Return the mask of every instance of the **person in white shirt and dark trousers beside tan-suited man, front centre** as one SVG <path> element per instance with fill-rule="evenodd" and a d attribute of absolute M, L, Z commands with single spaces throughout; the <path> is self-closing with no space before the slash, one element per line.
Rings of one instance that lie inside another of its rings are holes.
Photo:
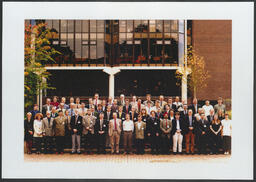
<path fill-rule="evenodd" d="M 134 131 L 134 123 L 132 120 L 130 120 L 129 114 L 126 114 L 125 118 L 126 120 L 123 121 L 124 154 L 129 154 L 132 152 L 132 133 Z"/>

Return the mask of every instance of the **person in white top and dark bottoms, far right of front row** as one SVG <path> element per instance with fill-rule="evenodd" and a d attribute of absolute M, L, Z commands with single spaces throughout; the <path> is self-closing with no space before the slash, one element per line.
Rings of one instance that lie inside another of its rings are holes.
<path fill-rule="evenodd" d="M 228 114 L 225 114 L 225 119 L 221 121 L 222 125 L 222 136 L 223 136 L 223 149 L 224 154 L 230 154 L 231 152 L 231 136 L 232 136 L 232 124 L 228 118 Z"/>

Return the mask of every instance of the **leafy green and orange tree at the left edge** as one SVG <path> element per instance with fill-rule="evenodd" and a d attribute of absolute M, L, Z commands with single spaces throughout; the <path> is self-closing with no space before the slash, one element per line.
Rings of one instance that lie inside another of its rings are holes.
<path fill-rule="evenodd" d="M 45 23 L 31 26 L 25 25 L 24 40 L 24 96 L 25 111 L 32 108 L 36 96 L 41 89 L 54 89 L 44 80 L 50 76 L 44 65 L 54 61 L 53 56 L 60 54 L 51 47 L 50 40 L 55 37 L 55 32 L 46 28 Z"/>

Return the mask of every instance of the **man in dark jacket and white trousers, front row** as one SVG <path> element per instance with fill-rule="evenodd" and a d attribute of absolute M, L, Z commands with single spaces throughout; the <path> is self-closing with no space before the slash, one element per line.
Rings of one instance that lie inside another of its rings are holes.
<path fill-rule="evenodd" d="M 172 120 L 172 137 L 173 137 L 173 154 L 175 155 L 177 153 L 182 153 L 182 141 L 183 141 L 183 135 L 185 133 L 184 129 L 184 120 L 180 118 L 180 113 L 175 113 L 175 119 Z"/>

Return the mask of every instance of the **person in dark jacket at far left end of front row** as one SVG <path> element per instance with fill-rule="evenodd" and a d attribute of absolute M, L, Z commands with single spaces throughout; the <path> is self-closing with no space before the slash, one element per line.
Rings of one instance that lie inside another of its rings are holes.
<path fill-rule="evenodd" d="M 24 131 L 25 131 L 25 142 L 27 153 L 31 154 L 32 143 L 33 143 L 33 118 L 32 113 L 27 113 L 27 118 L 24 120 Z"/>

